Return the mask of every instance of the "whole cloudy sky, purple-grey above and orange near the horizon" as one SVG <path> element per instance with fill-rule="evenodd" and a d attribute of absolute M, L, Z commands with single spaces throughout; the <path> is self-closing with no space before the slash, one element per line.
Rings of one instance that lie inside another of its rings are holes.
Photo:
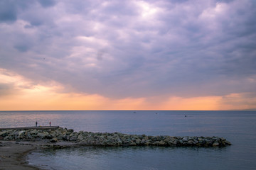
<path fill-rule="evenodd" d="M 255 0 L 1 0 L 0 111 L 256 110 Z"/>

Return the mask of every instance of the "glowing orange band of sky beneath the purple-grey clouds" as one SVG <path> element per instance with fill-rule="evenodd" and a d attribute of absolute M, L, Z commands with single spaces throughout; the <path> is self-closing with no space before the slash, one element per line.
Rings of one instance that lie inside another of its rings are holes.
<path fill-rule="evenodd" d="M 178 96 L 155 96 L 151 98 L 107 98 L 100 94 L 65 92 L 55 82 L 50 86 L 33 84 L 18 74 L 0 69 L 0 84 L 10 85 L 0 89 L 0 111 L 49 111 L 49 110 L 243 110 L 255 107 L 256 98 L 247 94 L 227 96 L 203 96 L 182 98 Z M 249 101 L 250 100 L 250 101 Z"/>

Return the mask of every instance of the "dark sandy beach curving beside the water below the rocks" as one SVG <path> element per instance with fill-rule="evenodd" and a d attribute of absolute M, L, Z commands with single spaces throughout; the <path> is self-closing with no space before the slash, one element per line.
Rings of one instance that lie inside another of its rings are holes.
<path fill-rule="evenodd" d="M 36 149 L 36 145 L 29 142 L 0 142 L 0 169 L 1 170 L 35 170 L 26 162 L 26 154 Z"/>

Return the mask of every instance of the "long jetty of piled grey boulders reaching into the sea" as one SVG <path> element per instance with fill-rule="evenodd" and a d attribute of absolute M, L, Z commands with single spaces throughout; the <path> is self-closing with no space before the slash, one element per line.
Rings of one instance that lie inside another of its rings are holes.
<path fill-rule="evenodd" d="M 128 135 L 120 132 L 74 132 L 72 129 L 5 129 L 0 130 L 0 140 L 73 142 L 95 146 L 169 146 L 169 147 L 225 147 L 231 145 L 223 137 L 173 137 Z"/>

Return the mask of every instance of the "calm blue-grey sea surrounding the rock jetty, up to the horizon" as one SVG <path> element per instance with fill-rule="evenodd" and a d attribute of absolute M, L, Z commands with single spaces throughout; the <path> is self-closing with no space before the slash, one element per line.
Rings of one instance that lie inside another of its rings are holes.
<path fill-rule="evenodd" d="M 218 136 L 228 147 L 78 147 L 36 150 L 42 169 L 256 169 L 256 111 L 0 111 L 0 128 L 58 125 L 75 131 Z"/>

